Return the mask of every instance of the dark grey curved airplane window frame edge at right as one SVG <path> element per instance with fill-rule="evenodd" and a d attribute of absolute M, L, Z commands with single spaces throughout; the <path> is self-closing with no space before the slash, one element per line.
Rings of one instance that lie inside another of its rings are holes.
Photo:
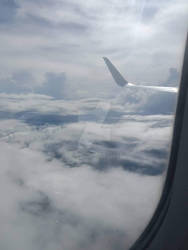
<path fill-rule="evenodd" d="M 130 250 L 188 249 L 188 35 L 168 172 L 158 206 Z"/>

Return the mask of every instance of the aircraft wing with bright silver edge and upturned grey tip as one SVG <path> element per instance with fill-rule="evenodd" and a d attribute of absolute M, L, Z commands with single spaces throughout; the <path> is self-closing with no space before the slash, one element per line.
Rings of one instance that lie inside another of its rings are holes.
<path fill-rule="evenodd" d="M 134 83 L 130 83 L 121 75 L 121 73 L 116 69 L 116 67 L 111 63 L 111 61 L 107 57 L 103 57 L 114 81 L 117 83 L 118 86 L 124 87 L 135 87 L 135 88 L 146 88 L 146 89 L 152 89 L 152 90 L 158 90 L 158 91 L 164 91 L 164 92 L 171 92 L 171 93 L 177 93 L 178 88 L 175 87 L 165 87 L 165 86 L 149 86 L 149 85 L 137 85 Z"/>

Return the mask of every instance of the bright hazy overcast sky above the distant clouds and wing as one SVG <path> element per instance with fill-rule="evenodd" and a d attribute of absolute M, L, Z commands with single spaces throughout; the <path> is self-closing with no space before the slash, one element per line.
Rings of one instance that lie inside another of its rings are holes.
<path fill-rule="evenodd" d="M 186 2 L 3 0 L 1 85 L 8 81 L 28 91 L 48 81 L 49 74 L 64 74 L 66 88 L 79 97 L 104 89 L 111 93 L 103 56 L 130 82 L 165 83 L 171 69 L 181 73 Z M 172 84 L 178 84 L 174 77 Z"/>

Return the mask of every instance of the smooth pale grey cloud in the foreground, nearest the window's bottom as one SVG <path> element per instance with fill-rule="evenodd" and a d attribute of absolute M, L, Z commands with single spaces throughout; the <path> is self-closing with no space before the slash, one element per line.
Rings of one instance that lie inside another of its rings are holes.
<path fill-rule="evenodd" d="M 160 194 L 161 178 L 68 169 L 29 149 L 0 148 L 0 190 L 7 191 L 0 209 L 2 249 L 128 248 Z"/>

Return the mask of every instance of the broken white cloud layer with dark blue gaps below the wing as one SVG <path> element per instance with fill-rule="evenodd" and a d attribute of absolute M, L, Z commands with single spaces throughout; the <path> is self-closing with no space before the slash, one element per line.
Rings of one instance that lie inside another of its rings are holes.
<path fill-rule="evenodd" d="M 172 115 L 133 114 L 101 99 L 22 98 L 1 96 L 3 141 L 39 150 L 68 167 L 87 164 L 98 171 L 123 168 L 147 175 L 164 171 Z"/>

